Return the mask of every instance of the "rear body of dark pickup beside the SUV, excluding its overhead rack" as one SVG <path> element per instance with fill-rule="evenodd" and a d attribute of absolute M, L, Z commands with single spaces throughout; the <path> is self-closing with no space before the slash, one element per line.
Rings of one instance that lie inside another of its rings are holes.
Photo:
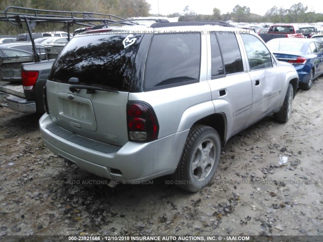
<path fill-rule="evenodd" d="M 22 83 L 0 81 L 0 106 L 23 113 L 44 113 L 42 92 L 54 61 L 21 64 Z"/>

